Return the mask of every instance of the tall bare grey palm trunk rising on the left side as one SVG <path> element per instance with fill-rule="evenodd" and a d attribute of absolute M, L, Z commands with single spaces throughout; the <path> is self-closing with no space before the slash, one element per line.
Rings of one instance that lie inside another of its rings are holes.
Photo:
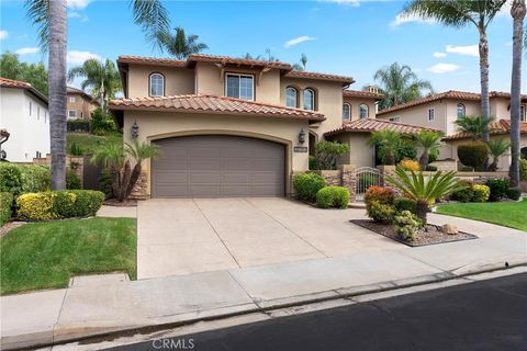
<path fill-rule="evenodd" d="M 49 135 L 52 189 L 66 189 L 66 0 L 49 1 Z"/>

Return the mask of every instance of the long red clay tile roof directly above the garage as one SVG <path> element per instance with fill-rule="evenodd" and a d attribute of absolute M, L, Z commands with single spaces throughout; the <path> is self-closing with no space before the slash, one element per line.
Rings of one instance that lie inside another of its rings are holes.
<path fill-rule="evenodd" d="M 144 110 L 161 112 L 194 112 L 211 114 L 261 115 L 289 117 L 309 121 L 324 121 L 322 113 L 246 101 L 233 98 L 189 94 L 160 98 L 115 99 L 110 101 L 110 110 Z"/>

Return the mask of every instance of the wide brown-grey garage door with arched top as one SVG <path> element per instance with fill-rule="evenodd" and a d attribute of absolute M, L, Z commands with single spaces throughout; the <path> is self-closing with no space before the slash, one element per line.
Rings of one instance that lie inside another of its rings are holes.
<path fill-rule="evenodd" d="M 154 141 L 154 197 L 283 196 L 285 149 L 281 144 L 206 135 Z"/>

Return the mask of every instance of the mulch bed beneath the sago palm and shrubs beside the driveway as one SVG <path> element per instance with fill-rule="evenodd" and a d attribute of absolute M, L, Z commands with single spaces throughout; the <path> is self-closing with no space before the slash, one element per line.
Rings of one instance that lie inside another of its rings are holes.
<path fill-rule="evenodd" d="M 417 239 L 415 241 L 405 241 L 399 237 L 399 234 L 395 231 L 395 227 L 393 225 L 381 224 L 371 219 L 351 219 L 350 222 L 352 224 L 361 226 L 362 228 L 370 229 L 371 231 L 374 231 L 377 234 L 385 236 L 386 238 L 393 239 L 410 247 L 470 240 L 478 238 L 475 235 L 464 231 L 458 231 L 458 234 L 456 235 L 448 235 L 442 233 L 439 226 L 428 224 L 425 228 L 419 230 L 419 234 L 417 235 Z"/>

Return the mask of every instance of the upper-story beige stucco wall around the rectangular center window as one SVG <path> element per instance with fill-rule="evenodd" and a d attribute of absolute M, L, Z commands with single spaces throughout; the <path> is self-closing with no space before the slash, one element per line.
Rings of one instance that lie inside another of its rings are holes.
<path fill-rule="evenodd" d="M 258 69 L 239 69 L 227 67 L 223 70 L 214 64 L 198 63 L 195 66 L 195 91 L 201 94 L 225 97 L 225 75 L 243 73 L 255 77 L 255 101 L 280 103 L 280 71 L 271 69 L 261 72 Z"/>

